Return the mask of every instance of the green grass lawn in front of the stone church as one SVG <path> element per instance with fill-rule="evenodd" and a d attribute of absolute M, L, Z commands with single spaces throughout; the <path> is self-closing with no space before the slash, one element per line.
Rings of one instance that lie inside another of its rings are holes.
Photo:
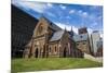
<path fill-rule="evenodd" d="M 103 66 L 103 63 L 80 58 L 13 59 L 11 64 L 13 73 Z"/>

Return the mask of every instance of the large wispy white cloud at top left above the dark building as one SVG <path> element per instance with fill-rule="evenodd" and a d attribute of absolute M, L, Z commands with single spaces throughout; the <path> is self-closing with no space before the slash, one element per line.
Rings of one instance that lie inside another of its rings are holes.
<path fill-rule="evenodd" d="M 32 9 L 39 13 L 43 13 L 48 9 L 46 4 L 40 2 L 13 0 L 12 3 L 26 10 Z"/>

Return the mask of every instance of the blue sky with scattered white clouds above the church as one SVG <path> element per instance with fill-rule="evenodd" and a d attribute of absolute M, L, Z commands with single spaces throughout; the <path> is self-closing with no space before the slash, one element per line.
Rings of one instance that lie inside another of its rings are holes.
<path fill-rule="evenodd" d="M 39 19 L 44 15 L 62 28 L 77 33 L 79 27 L 86 26 L 87 31 L 103 33 L 103 7 L 82 4 L 62 4 L 12 0 L 12 3 L 30 15 Z"/>

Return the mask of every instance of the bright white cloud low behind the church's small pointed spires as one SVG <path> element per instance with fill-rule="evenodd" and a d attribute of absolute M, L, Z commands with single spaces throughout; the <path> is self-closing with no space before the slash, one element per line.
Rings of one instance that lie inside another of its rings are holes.
<path fill-rule="evenodd" d="M 59 26 L 60 28 L 63 29 L 67 29 L 67 31 L 71 31 L 71 25 L 66 25 L 66 24 L 63 24 L 63 23 L 55 23 L 57 26 Z M 78 28 L 76 26 L 72 26 L 72 31 L 78 34 Z"/>

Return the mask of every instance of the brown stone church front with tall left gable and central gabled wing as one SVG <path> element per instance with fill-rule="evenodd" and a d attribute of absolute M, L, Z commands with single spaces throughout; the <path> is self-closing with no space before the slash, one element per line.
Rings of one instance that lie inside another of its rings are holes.
<path fill-rule="evenodd" d="M 31 40 L 26 45 L 24 58 L 83 57 L 76 48 L 73 32 L 62 29 L 45 17 L 36 25 Z"/>

